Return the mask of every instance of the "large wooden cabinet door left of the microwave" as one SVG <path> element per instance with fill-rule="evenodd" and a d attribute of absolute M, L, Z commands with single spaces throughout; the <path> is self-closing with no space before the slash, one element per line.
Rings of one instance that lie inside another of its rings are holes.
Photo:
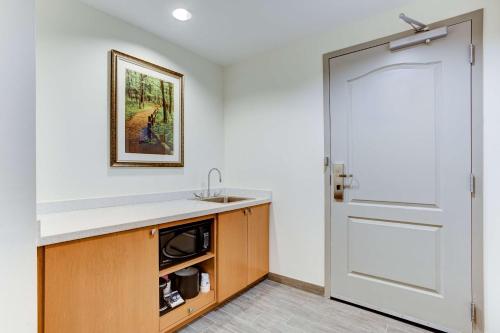
<path fill-rule="evenodd" d="M 158 332 L 158 233 L 152 230 L 47 246 L 45 333 Z"/>

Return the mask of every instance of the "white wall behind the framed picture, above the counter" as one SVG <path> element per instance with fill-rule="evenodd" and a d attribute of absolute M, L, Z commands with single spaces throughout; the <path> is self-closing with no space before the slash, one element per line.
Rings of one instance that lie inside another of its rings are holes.
<path fill-rule="evenodd" d="M 222 69 L 75 0 L 37 0 L 37 199 L 167 192 L 223 167 Z M 185 167 L 110 168 L 108 52 L 185 75 Z"/>

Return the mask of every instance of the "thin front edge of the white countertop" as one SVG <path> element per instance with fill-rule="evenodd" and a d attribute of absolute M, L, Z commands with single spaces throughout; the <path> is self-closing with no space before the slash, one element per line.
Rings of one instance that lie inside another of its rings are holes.
<path fill-rule="evenodd" d="M 103 235 L 108 235 L 108 234 L 112 234 L 112 233 L 116 233 L 116 232 L 145 228 L 148 226 L 156 226 L 159 224 L 176 222 L 176 221 L 181 221 L 181 220 L 190 219 L 190 218 L 196 218 L 196 217 L 200 217 L 200 216 L 204 216 L 204 215 L 223 213 L 223 212 L 237 210 L 237 209 L 241 209 L 241 208 L 267 204 L 267 203 L 271 203 L 271 202 L 272 202 L 271 198 L 256 198 L 253 200 L 241 201 L 241 202 L 236 202 L 236 203 L 231 203 L 231 204 L 220 204 L 220 206 L 214 206 L 213 208 L 210 208 L 210 209 L 198 209 L 198 210 L 191 210 L 191 211 L 188 210 L 188 211 L 183 212 L 183 213 L 167 215 L 167 216 L 158 216 L 155 218 L 137 220 L 137 221 L 132 221 L 132 222 L 123 223 L 123 224 L 106 226 L 106 227 L 102 227 L 102 228 L 98 227 L 98 228 L 92 228 L 92 229 L 87 229 L 87 230 L 78 230 L 75 232 L 58 234 L 58 235 L 51 235 L 51 236 L 46 236 L 46 237 L 39 236 L 38 241 L 37 241 L 37 247 L 54 245 L 57 243 L 64 243 L 64 242 L 75 241 L 75 240 L 85 239 L 85 238 L 90 238 L 90 237 L 103 236 Z M 39 223 L 43 223 L 43 222 L 40 221 Z"/>

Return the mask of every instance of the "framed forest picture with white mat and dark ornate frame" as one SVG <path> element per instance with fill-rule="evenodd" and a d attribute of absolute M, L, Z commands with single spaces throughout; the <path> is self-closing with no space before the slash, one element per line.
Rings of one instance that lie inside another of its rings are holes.
<path fill-rule="evenodd" d="M 111 50 L 111 166 L 184 166 L 183 75 Z"/>

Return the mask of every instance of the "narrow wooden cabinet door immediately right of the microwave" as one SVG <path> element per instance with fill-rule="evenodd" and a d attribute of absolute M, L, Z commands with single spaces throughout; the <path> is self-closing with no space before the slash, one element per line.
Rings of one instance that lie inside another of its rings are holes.
<path fill-rule="evenodd" d="M 219 302 L 247 286 L 247 217 L 244 210 L 219 214 L 217 221 Z"/>

